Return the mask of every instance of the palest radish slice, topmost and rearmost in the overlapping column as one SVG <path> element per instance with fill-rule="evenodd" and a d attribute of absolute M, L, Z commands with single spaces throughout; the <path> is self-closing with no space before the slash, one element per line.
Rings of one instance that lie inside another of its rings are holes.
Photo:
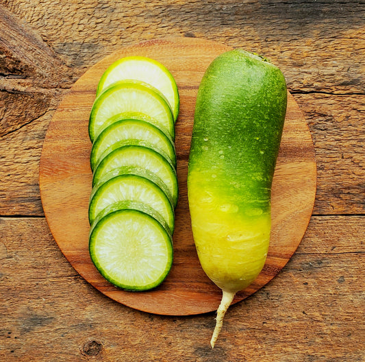
<path fill-rule="evenodd" d="M 176 82 L 164 65 L 151 58 L 129 56 L 114 62 L 103 73 L 97 88 L 97 95 L 114 82 L 129 79 L 146 82 L 160 90 L 168 100 L 176 121 L 179 112 L 179 93 Z"/>

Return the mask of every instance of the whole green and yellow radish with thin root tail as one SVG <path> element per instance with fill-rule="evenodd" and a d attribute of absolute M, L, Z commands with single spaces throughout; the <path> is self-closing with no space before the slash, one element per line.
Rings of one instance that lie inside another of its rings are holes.
<path fill-rule="evenodd" d="M 286 101 L 281 71 L 239 49 L 218 56 L 199 86 L 188 200 L 199 261 L 223 291 L 212 348 L 234 295 L 255 280 L 266 261 Z"/>

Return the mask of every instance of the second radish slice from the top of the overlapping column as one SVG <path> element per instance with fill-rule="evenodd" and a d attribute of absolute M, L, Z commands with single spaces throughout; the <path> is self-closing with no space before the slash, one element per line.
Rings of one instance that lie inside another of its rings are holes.
<path fill-rule="evenodd" d="M 108 125 L 120 119 L 143 119 L 175 139 L 173 114 L 164 97 L 142 82 L 120 81 L 97 97 L 89 119 L 89 136 L 93 142 Z"/>

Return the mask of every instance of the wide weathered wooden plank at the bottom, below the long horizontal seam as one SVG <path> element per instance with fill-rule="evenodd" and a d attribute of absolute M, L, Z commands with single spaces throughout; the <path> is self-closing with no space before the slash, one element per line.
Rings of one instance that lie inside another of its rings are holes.
<path fill-rule="evenodd" d="M 292 260 L 231 307 L 211 350 L 214 313 L 163 317 L 112 302 L 77 276 L 45 219 L 2 218 L 0 359 L 363 361 L 364 233 L 364 217 L 312 217 Z"/>

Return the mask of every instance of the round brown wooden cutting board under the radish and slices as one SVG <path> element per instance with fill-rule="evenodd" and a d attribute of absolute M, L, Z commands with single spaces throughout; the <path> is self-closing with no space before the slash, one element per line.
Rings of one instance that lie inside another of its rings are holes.
<path fill-rule="evenodd" d="M 205 69 L 230 48 L 197 38 L 151 40 L 125 47 L 87 71 L 64 97 L 49 125 L 40 159 L 40 193 L 49 228 L 64 256 L 91 285 L 132 308 L 162 315 L 194 315 L 214 311 L 221 300 L 205 276 L 190 228 L 186 176 L 197 90 Z M 248 49 L 249 50 L 249 49 Z M 92 173 L 88 117 L 99 78 L 124 56 L 148 56 L 162 62 L 179 88 L 176 123 L 179 202 L 176 209 L 174 263 L 166 280 L 152 291 L 129 292 L 110 285 L 88 254 L 88 200 Z M 271 280 L 286 265 L 303 237 L 312 215 L 316 193 L 316 161 L 310 131 L 289 94 L 288 111 L 273 181 L 273 228 L 266 265 L 238 302 Z"/>

